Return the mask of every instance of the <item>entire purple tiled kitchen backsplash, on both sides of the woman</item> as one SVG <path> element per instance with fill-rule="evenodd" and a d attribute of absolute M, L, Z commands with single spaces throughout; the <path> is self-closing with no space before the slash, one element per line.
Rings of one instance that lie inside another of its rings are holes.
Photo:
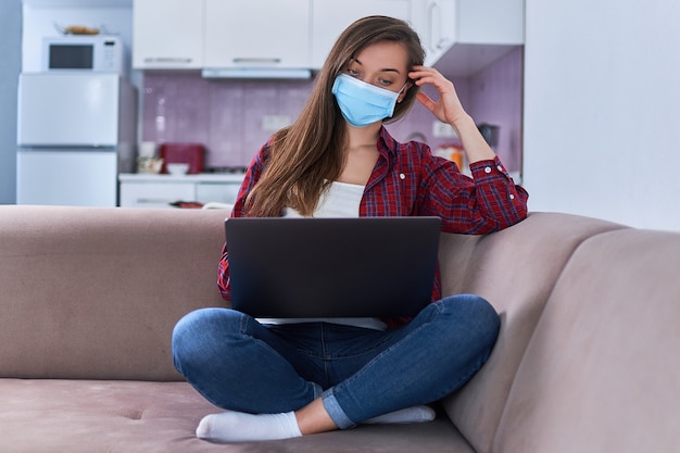
<path fill-rule="evenodd" d="M 500 126 L 495 151 L 508 171 L 521 168 L 522 51 L 513 50 L 473 77 L 454 79 L 475 121 Z M 226 80 L 197 73 L 144 74 L 142 140 L 200 142 L 206 167 L 247 166 L 272 134 L 264 115 L 298 116 L 313 80 Z M 435 97 L 431 87 L 425 92 Z M 432 149 L 450 139 L 432 136 L 435 117 L 418 102 L 405 118 L 388 125 L 400 141 L 423 140 Z"/>

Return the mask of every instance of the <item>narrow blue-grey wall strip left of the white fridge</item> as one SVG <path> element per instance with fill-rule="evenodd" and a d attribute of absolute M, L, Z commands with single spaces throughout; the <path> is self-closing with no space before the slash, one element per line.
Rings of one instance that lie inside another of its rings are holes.
<path fill-rule="evenodd" d="M 16 89 L 22 68 L 22 2 L 0 3 L 0 204 L 16 202 Z"/>

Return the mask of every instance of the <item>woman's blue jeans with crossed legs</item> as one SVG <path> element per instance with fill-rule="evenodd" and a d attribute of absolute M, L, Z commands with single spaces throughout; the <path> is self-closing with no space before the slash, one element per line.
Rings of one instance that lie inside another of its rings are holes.
<path fill-rule="evenodd" d="M 248 413 L 297 411 L 318 397 L 335 424 L 437 401 L 483 365 L 500 318 L 477 295 L 425 307 L 387 331 L 327 323 L 263 326 L 229 309 L 202 309 L 173 332 L 175 367 L 205 399 Z"/>

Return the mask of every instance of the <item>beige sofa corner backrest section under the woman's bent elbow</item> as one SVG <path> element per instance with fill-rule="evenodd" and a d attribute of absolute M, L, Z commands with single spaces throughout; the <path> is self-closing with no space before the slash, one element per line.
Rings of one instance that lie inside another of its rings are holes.
<path fill-rule="evenodd" d="M 502 327 L 487 364 L 444 401 L 453 423 L 478 452 L 490 452 L 515 372 L 574 251 L 621 225 L 581 216 L 534 213 L 486 237 L 450 236 L 440 261 L 444 293 L 476 293 L 496 309 Z"/>

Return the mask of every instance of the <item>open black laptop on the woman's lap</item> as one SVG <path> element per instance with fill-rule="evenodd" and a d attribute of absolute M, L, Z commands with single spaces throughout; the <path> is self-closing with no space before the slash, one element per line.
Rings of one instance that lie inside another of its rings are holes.
<path fill-rule="evenodd" d="M 431 302 L 439 217 L 232 217 L 231 306 L 254 317 L 415 316 Z"/>

